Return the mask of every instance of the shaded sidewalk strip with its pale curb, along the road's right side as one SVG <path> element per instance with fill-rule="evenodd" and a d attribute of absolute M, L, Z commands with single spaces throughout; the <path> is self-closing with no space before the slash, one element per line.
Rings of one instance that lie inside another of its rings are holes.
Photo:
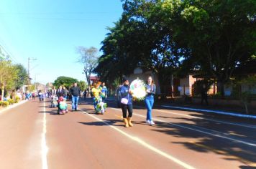
<path fill-rule="evenodd" d="M 108 98 L 108 100 L 116 101 L 114 97 Z M 142 102 L 135 103 L 138 105 L 142 105 Z M 171 108 L 176 110 L 188 110 L 188 111 L 195 111 L 195 112 L 209 112 L 215 113 L 219 115 L 229 115 L 233 117 L 243 117 L 248 119 L 256 119 L 256 114 L 246 115 L 245 110 L 242 107 L 220 107 L 215 105 L 198 105 L 198 104 L 190 104 L 190 103 L 177 103 L 177 102 L 170 102 L 160 101 L 157 100 L 155 102 L 155 106 L 157 107 L 165 107 Z"/>

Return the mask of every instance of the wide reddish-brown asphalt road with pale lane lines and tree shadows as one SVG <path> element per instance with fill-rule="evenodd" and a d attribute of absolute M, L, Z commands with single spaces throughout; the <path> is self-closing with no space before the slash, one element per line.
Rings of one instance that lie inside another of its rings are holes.
<path fill-rule="evenodd" d="M 58 115 L 38 100 L 0 112 L 0 168 L 256 168 L 256 122 L 155 107 L 156 125 L 134 105 L 134 127 L 108 100 Z M 70 107 L 70 106 L 69 106 Z"/>

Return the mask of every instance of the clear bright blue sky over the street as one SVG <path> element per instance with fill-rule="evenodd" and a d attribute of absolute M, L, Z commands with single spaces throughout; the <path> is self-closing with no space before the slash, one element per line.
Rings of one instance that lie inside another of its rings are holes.
<path fill-rule="evenodd" d="M 43 84 L 59 76 L 84 80 L 76 47 L 101 47 L 107 26 L 122 15 L 120 0 L 1 0 L 0 45 Z M 33 82 L 33 81 L 32 81 Z"/>

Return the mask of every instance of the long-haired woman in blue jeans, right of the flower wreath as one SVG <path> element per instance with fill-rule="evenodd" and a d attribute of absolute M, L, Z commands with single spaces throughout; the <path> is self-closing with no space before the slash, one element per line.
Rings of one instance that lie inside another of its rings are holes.
<path fill-rule="evenodd" d="M 146 123 L 149 125 L 155 125 L 155 122 L 152 120 L 152 107 L 154 105 L 154 95 L 155 95 L 155 84 L 152 80 L 152 77 L 147 77 L 145 104 L 147 107 L 147 120 Z"/>

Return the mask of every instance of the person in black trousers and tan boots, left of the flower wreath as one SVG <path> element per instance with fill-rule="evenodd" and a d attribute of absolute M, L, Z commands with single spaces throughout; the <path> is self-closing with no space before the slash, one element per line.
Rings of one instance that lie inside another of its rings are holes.
<path fill-rule="evenodd" d="M 129 80 L 126 77 L 124 77 L 123 82 L 124 85 L 119 89 L 119 97 L 121 98 L 120 105 L 123 112 L 124 126 L 132 127 L 132 91 L 129 89 Z"/>

